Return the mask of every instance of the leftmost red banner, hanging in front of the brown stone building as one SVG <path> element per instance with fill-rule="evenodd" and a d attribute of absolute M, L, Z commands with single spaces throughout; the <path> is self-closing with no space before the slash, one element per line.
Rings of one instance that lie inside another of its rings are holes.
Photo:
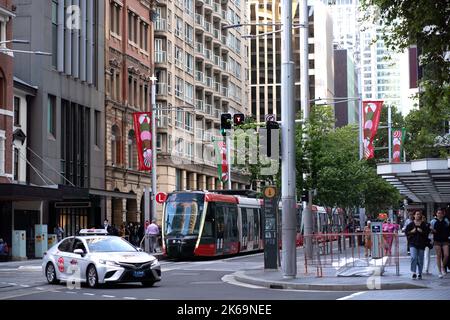
<path fill-rule="evenodd" d="M 139 159 L 139 170 L 152 170 L 152 113 L 134 112 L 134 132 Z"/>

